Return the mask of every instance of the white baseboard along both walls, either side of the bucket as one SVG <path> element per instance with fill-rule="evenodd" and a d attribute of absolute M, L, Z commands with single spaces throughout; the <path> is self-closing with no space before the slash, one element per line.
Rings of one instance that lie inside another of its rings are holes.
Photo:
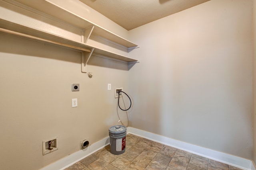
<path fill-rule="evenodd" d="M 207 149 L 204 147 L 199 147 L 196 145 L 192 145 L 189 143 L 185 143 L 182 141 L 177 141 L 168 137 L 164 137 L 161 135 L 157 135 L 154 133 L 150 133 L 147 131 L 142 131 L 140 129 L 136 129 L 133 127 L 127 127 L 126 130 L 127 133 L 132 133 L 134 135 L 138 135 L 141 137 L 144 137 L 146 139 L 150 139 L 152 141 L 156 141 L 158 143 L 162 143 L 164 145 L 168 145 L 171 147 L 175 147 L 177 149 L 185 150 L 200 156 L 204 156 L 206 158 L 210 158 L 212 160 L 216 160 L 225 164 L 229 164 L 244 170 L 256 170 L 256 166 L 252 160 L 248 160 L 245 158 L 241 158 L 238 156 L 234 156 L 231 154 L 226 154 L 222 152 L 218 152 L 216 150 Z M 72 164 L 86 158 L 87 156 L 93 154 L 94 152 L 102 149 L 106 145 L 109 144 L 109 137 L 106 137 L 92 145 L 90 145 L 88 148 L 79 150 L 78 152 L 75 152 L 73 154 L 70 154 L 69 156 L 66 156 L 65 158 L 62 158 L 58 160 L 57 162 L 54 162 L 48 166 L 45 166 L 41 170 L 64 170 L 65 168 L 68 168 Z"/>

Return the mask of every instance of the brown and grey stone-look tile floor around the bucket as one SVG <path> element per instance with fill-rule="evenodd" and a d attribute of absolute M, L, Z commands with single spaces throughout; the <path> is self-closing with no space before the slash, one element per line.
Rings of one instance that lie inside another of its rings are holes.
<path fill-rule="evenodd" d="M 123 154 L 110 153 L 110 146 L 80 160 L 65 170 L 241 170 L 184 150 L 136 135 L 126 135 Z"/>

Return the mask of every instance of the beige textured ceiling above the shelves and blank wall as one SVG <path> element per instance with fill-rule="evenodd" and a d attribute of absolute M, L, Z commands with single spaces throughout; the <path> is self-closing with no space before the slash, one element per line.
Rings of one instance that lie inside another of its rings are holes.
<path fill-rule="evenodd" d="M 127 30 L 209 0 L 80 0 Z"/>

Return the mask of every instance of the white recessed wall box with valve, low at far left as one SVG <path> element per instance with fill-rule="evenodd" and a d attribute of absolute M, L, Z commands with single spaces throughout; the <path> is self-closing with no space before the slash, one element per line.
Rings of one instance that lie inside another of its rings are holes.
<path fill-rule="evenodd" d="M 58 136 L 43 141 L 43 155 L 58 150 Z"/>

